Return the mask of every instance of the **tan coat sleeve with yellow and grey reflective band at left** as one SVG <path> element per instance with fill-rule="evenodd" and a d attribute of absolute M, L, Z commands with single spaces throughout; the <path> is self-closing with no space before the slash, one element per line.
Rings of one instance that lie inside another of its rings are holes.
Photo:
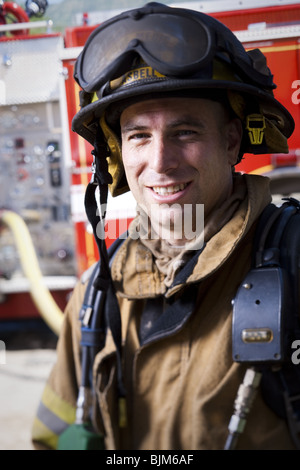
<path fill-rule="evenodd" d="M 56 363 L 45 384 L 32 428 L 35 449 L 56 449 L 59 435 L 75 421 L 81 380 L 79 312 L 85 284 L 77 283 L 64 312 Z"/>

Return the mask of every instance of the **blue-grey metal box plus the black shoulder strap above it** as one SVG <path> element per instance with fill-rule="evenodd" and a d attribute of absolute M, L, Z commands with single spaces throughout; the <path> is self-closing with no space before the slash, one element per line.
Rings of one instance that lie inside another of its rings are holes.
<path fill-rule="evenodd" d="M 298 228 L 294 226 L 296 214 Z M 294 199 L 280 207 L 268 205 L 260 217 L 252 268 L 233 301 L 233 359 L 237 362 L 281 364 L 285 360 L 285 330 L 299 322 L 295 267 L 300 250 L 299 219 L 300 205 Z M 287 246 L 292 238 L 298 241 L 294 252 Z"/>

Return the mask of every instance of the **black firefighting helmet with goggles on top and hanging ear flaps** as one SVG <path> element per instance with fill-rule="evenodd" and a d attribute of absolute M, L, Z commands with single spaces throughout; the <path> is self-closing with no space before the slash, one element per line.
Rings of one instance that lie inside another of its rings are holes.
<path fill-rule="evenodd" d="M 98 140 L 113 196 L 128 190 L 118 118 L 137 101 L 222 95 L 243 123 L 239 161 L 244 153 L 288 152 L 294 121 L 274 98 L 265 56 L 259 49 L 246 52 L 225 25 L 204 13 L 160 3 L 121 13 L 90 35 L 74 78 L 82 90 L 72 129 L 92 145 Z"/>

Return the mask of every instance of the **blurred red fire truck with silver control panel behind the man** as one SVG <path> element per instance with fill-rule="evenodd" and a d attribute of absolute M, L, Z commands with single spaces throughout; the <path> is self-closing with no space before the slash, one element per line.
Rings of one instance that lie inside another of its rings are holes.
<path fill-rule="evenodd" d="M 299 197 L 300 4 L 213 0 L 178 5 L 214 16 L 246 49 L 259 47 L 266 55 L 275 96 L 293 115 L 296 131 L 288 155 L 246 155 L 237 170 L 268 175 L 274 200 Z M 16 22 L 6 24 L 8 13 Z M 16 324 L 42 315 L 57 332 L 68 293 L 98 257 L 83 205 L 91 148 L 70 128 L 79 107 L 74 63 L 101 17 L 93 21 L 83 13 L 82 24 L 62 35 L 52 32 L 50 21 L 29 22 L 29 16 L 15 2 L 0 0 L 0 321 Z M 126 230 L 134 211 L 130 193 L 109 199 L 108 245 Z"/>

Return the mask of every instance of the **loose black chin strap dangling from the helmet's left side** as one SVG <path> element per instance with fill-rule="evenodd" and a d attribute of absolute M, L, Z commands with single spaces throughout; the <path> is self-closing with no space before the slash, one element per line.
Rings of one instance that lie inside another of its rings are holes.
<path fill-rule="evenodd" d="M 85 210 L 88 220 L 93 228 L 94 237 L 98 246 L 100 256 L 100 269 L 98 276 L 94 281 L 94 288 L 102 291 L 106 297 L 105 323 L 110 328 L 117 354 L 118 369 L 118 391 L 119 396 L 125 396 L 125 389 L 122 379 L 121 366 L 121 315 L 119 304 L 115 293 L 111 272 L 109 267 L 109 257 L 105 244 L 105 216 L 108 197 L 108 185 L 112 183 L 112 177 L 108 172 L 108 163 L 106 157 L 108 155 L 107 147 L 104 140 L 100 139 L 101 128 L 96 133 L 97 137 L 94 144 L 92 154 L 94 156 L 92 166 L 92 178 L 87 186 L 85 193 Z M 98 206 L 96 199 L 96 189 L 99 186 L 100 204 Z M 99 231 L 100 229 L 100 231 Z M 94 315 L 100 312 L 94 312 Z"/>

